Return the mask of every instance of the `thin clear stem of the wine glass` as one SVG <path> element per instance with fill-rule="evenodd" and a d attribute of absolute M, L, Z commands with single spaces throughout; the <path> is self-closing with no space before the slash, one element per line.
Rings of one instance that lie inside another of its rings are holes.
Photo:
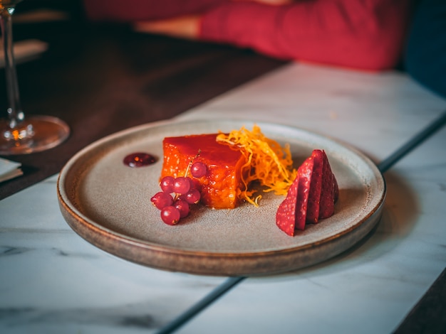
<path fill-rule="evenodd" d="M 24 120 L 24 112 L 21 109 L 19 84 L 17 82 L 16 65 L 14 61 L 14 49 L 12 39 L 12 14 L 14 7 L 4 8 L 0 11 L 0 26 L 3 36 L 6 92 L 8 95 L 8 119 L 9 127 L 16 128 Z"/>

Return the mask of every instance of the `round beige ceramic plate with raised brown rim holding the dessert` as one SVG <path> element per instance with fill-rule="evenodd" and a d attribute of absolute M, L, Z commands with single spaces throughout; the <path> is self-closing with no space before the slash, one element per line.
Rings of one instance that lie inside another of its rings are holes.
<path fill-rule="evenodd" d="M 289 237 L 276 227 L 284 199 L 268 193 L 259 208 L 197 208 L 175 226 L 165 225 L 150 198 L 159 191 L 162 139 L 215 133 L 252 122 L 160 122 L 121 131 L 73 156 L 58 179 L 58 200 L 68 224 L 91 244 L 132 262 L 170 271 L 208 275 L 276 274 L 334 257 L 361 240 L 380 219 L 385 182 L 363 154 L 302 129 L 261 124 L 266 136 L 291 145 L 296 165 L 324 149 L 340 196 L 336 213 Z M 123 158 L 145 151 L 159 157 L 130 168 Z"/>

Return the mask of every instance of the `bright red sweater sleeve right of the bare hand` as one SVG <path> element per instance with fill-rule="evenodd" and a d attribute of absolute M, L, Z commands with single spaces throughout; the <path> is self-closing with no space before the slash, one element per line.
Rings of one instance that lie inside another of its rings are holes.
<path fill-rule="evenodd" d="M 232 2 L 204 14 L 200 38 L 275 58 L 385 70 L 403 49 L 408 0 L 317 0 L 286 6 Z"/>

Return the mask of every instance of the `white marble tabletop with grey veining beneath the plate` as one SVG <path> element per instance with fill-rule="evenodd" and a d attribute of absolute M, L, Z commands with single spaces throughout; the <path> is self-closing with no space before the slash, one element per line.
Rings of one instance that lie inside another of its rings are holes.
<path fill-rule="evenodd" d="M 179 119 L 301 126 L 379 163 L 445 109 L 397 72 L 292 64 Z M 390 333 L 446 266 L 444 143 L 446 128 L 385 173 L 388 198 L 370 237 L 326 263 L 245 279 L 178 333 Z M 0 333 L 153 333 L 223 281 L 88 244 L 58 210 L 56 176 L 0 202 Z"/>

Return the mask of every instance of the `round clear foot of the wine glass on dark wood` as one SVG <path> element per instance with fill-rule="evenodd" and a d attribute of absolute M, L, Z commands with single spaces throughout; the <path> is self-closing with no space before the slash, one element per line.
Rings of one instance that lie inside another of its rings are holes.
<path fill-rule="evenodd" d="M 70 134 L 68 125 L 56 117 L 29 116 L 21 126 L 25 127 L 27 124 L 32 125 L 33 135 L 15 140 L 3 135 L 5 129 L 8 129 L 8 122 L 5 119 L 0 120 L 0 155 L 12 156 L 45 151 L 61 144 Z"/>

